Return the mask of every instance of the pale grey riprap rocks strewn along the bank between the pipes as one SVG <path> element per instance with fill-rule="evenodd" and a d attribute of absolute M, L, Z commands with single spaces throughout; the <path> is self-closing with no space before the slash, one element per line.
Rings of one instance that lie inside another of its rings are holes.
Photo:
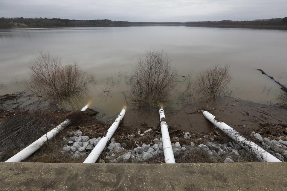
<path fill-rule="evenodd" d="M 149 129 L 144 133 L 151 131 Z M 68 133 L 71 135 L 69 138 L 63 138 L 63 142 L 66 143 L 63 147 L 61 153 L 69 152 L 72 157 L 79 158 L 86 156 L 88 153 L 86 151 L 93 150 L 94 146 L 101 140 L 101 137 L 98 138 L 89 138 L 88 136 L 82 136 L 82 132 L 79 130 L 77 131 L 76 135 L 74 132 Z M 76 136 L 75 136 L 76 135 Z M 184 138 L 190 139 L 190 133 L 184 132 Z M 257 140 L 263 145 L 268 152 L 272 153 L 274 156 L 279 158 L 280 160 L 287 159 L 287 141 L 283 141 L 285 137 L 279 137 L 276 140 L 271 140 L 269 138 L 262 138 L 259 133 L 252 133 L 251 136 L 257 138 Z M 210 157 L 214 156 L 225 156 L 231 155 L 233 153 L 235 155 L 243 155 L 245 154 L 245 150 L 241 148 L 239 144 L 235 141 L 230 141 L 228 144 L 219 144 L 214 143 L 214 138 L 209 138 L 210 141 L 205 142 L 204 144 L 199 144 L 196 148 L 196 145 L 193 142 L 190 142 L 190 146 L 181 145 L 180 138 L 173 137 L 172 140 L 178 141 L 172 143 L 172 150 L 175 156 L 184 155 L 184 153 L 189 152 L 191 150 L 205 150 L 207 151 L 207 155 Z M 111 138 L 111 143 L 108 145 L 108 151 L 104 151 L 106 153 L 103 158 L 105 158 L 106 162 L 120 162 L 120 161 L 128 161 L 128 160 L 138 160 L 138 161 L 146 161 L 151 159 L 152 157 L 157 157 L 159 154 L 163 155 L 163 144 L 162 138 L 155 138 L 152 143 L 150 144 L 142 144 L 141 147 L 134 148 L 133 150 L 126 150 L 128 145 L 126 143 L 117 143 L 115 138 Z M 71 150 L 71 151 L 70 151 Z M 122 154 L 124 153 L 124 154 Z M 100 159 L 98 162 L 105 162 L 103 159 Z M 216 161 L 216 160 L 215 160 Z M 231 156 L 227 156 L 224 160 L 225 163 L 227 162 L 234 162 L 231 159 Z"/>

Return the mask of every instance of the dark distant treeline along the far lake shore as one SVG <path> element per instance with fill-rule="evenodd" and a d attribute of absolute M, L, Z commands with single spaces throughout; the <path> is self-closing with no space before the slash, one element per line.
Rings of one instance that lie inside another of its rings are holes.
<path fill-rule="evenodd" d="M 210 26 L 286 26 L 287 17 L 276 19 L 259 19 L 253 21 L 192 21 L 192 22 L 129 22 L 129 21 L 111 21 L 109 19 L 102 20 L 70 20 L 59 18 L 0 18 L 0 28 L 13 27 L 124 27 L 131 25 L 210 25 Z"/>

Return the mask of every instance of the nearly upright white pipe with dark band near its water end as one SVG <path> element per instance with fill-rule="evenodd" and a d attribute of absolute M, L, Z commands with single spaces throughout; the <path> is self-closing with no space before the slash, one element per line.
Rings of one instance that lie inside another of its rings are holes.
<path fill-rule="evenodd" d="M 170 142 L 170 134 L 168 133 L 168 126 L 165 122 L 166 119 L 164 115 L 164 109 L 162 107 L 159 109 L 159 119 L 161 121 L 161 137 L 162 145 L 164 147 L 164 162 L 175 164 L 172 145 Z"/>

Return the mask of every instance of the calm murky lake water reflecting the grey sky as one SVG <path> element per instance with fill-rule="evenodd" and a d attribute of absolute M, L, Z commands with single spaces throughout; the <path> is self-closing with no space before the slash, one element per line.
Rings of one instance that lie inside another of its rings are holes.
<path fill-rule="evenodd" d="M 280 87 L 257 68 L 282 84 L 287 82 L 287 31 L 207 28 L 188 26 L 41 28 L 0 30 L 1 94 L 22 90 L 13 78 L 28 78 L 27 65 L 33 54 L 50 53 L 63 63 L 77 62 L 94 73 L 98 84 L 91 87 L 91 108 L 114 115 L 125 102 L 128 90 L 123 76 L 132 71 L 145 50 L 164 50 L 179 76 L 196 74 L 213 64 L 230 64 L 233 96 L 255 102 L 276 98 Z M 119 75 L 120 74 L 120 75 Z M 112 97 L 99 93 L 106 77 L 113 76 Z M 272 87 L 272 88 L 271 88 Z M 268 89 L 270 89 L 268 93 Z M 265 91 L 263 91 L 265 90 Z M 174 96 L 174 102 L 176 102 Z M 179 109 L 180 104 L 172 107 Z"/>

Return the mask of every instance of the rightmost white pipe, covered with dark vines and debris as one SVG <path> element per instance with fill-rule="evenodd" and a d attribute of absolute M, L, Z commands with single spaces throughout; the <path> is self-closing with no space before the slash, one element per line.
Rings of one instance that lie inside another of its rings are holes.
<path fill-rule="evenodd" d="M 278 158 L 271 155 L 267 151 L 265 151 L 262 147 L 259 147 L 252 141 L 247 140 L 242 137 L 240 133 L 234 130 L 229 125 L 225 124 L 222 121 L 217 121 L 216 117 L 207 111 L 203 111 L 202 114 L 205 118 L 207 118 L 211 123 L 213 123 L 216 127 L 223 131 L 226 135 L 232 138 L 237 144 L 243 147 L 245 150 L 250 153 L 254 153 L 259 161 L 262 162 L 281 162 Z"/>

